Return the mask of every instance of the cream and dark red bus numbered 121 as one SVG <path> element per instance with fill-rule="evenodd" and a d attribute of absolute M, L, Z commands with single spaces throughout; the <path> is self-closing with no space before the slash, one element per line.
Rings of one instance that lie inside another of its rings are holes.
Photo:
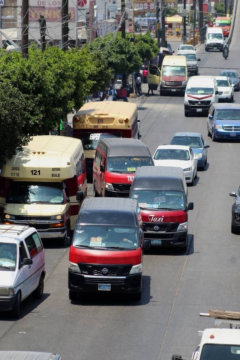
<path fill-rule="evenodd" d="M 87 196 L 86 164 L 79 139 L 33 136 L 0 174 L 1 217 L 4 224 L 33 226 L 43 238 L 66 240 Z"/>

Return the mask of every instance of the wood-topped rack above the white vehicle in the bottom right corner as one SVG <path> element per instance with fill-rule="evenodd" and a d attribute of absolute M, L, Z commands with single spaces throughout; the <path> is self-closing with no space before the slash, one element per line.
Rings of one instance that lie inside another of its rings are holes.
<path fill-rule="evenodd" d="M 200 312 L 200 316 L 214 318 L 214 328 L 219 328 L 222 324 L 230 325 L 230 329 L 240 327 L 240 312 L 209 310 L 209 313 Z"/>

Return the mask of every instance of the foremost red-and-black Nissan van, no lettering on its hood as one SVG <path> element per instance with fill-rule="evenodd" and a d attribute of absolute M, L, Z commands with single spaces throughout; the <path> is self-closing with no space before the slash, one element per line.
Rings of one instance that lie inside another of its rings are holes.
<path fill-rule="evenodd" d="M 143 238 L 136 200 L 85 199 L 69 252 L 69 299 L 80 292 L 108 291 L 140 300 L 144 249 L 149 240 Z"/>

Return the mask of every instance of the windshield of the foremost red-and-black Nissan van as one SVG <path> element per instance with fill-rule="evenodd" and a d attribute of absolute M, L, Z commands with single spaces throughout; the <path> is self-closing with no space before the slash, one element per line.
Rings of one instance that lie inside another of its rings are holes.
<path fill-rule="evenodd" d="M 139 247 L 139 240 L 134 227 L 77 225 L 73 246 L 136 249 Z"/>

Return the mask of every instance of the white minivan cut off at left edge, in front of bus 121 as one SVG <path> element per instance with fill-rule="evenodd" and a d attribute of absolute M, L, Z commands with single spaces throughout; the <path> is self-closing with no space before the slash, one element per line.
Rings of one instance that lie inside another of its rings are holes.
<path fill-rule="evenodd" d="M 20 302 L 44 289 L 45 254 L 35 228 L 0 224 L 0 311 L 20 315 Z"/>

